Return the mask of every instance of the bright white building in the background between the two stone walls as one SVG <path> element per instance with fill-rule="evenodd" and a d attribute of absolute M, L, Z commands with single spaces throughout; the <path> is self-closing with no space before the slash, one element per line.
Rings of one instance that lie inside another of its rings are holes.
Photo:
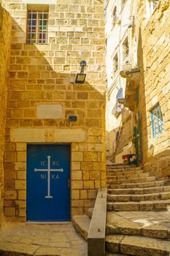
<path fill-rule="evenodd" d="M 137 67 L 137 38 L 134 17 L 137 1 L 107 0 L 105 7 L 106 64 L 107 64 L 107 158 L 122 162 L 122 155 L 131 151 L 126 145 L 117 157 L 114 153 L 122 127 L 122 113 L 131 115 L 117 99 L 125 97 L 126 79 L 120 76 L 123 65 Z"/>

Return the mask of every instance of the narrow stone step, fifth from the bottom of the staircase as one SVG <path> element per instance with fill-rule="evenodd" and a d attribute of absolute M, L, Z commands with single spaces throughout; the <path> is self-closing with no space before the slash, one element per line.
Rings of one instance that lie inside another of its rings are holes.
<path fill-rule="evenodd" d="M 148 188 L 135 188 L 135 189 L 107 189 L 110 195 L 143 195 L 160 192 L 170 192 L 170 186 L 164 187 L 148 187 Z"/>

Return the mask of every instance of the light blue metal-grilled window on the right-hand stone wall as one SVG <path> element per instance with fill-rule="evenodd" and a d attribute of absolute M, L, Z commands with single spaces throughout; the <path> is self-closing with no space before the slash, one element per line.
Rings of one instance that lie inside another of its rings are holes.
<path fill-rule="evenodd" d="M 152 125 L 152 138 L 156 138 L 163 132 L 163 115 L 159 104 L 150 111 L 150 119 Z"/>

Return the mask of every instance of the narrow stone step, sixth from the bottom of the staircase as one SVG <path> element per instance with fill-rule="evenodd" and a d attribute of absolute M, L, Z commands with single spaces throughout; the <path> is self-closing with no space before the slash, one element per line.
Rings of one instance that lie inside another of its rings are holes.
<path fill-rule="evenodd" d="M 127 184 L 107 184 L 108 189 L 133 189 L 133 188 L 146 188 L 146 187 L 159 187 L 165 186 L 165 181 L 148 181 L 139 183 L 127 183 Z"/>

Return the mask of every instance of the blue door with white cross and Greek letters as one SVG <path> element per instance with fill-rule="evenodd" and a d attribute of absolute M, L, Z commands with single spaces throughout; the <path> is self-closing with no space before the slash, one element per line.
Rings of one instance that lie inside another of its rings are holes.
<path fill-rule="evenodd" d="M 69 180 L 69 145 L 28 145 L 27 220 L 70 220 Z"/>

